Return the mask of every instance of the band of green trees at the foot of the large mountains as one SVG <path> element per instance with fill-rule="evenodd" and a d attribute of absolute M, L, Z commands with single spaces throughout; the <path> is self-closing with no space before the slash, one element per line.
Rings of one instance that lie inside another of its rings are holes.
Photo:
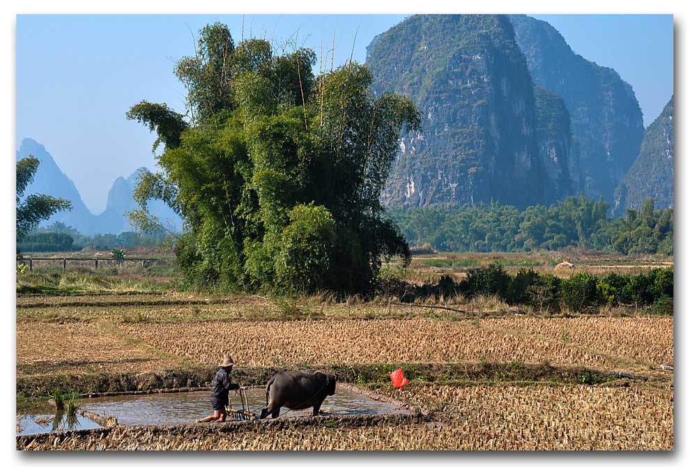
<path fill-rule="evenodd" d="M 493 201 L 388 212 L 409 243 L 429 243 L 440 251 L 517 252 L 579 245 L 624 254 L 673 254 L 673 210 L 653 206 L 648 201 L 640 211 L 612 219 L 606 217 L 608 204 L 581 195 L 523 211 Z"/>

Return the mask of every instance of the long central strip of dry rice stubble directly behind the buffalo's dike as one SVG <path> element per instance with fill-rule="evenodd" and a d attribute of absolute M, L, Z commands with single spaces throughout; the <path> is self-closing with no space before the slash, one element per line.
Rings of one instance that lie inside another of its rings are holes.
<path fill-rule="evenodd" d="M 615 369 L 618 362 L 562 342 L 434 319 L 122 324 L 130 335 L 181 358 L 238 365 L 513 361 Z"/>

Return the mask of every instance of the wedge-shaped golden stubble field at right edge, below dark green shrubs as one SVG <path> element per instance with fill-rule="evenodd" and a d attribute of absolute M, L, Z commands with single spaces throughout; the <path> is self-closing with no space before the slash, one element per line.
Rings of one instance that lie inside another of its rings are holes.
<path fill-rule="evenodd" d="M 638 363 L 673 365 L 673 318 L 578 316 L 576 318 L 499 318 L 489 328 L 526 332 L 552 342 L 595 349 Z"/>

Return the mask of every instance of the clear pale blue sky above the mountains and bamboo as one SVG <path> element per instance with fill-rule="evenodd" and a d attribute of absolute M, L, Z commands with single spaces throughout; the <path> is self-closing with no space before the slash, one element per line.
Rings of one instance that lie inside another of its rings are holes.
<path fill-rule="evenodd" d="M 673 93 L 670 15 L 534 15 L 585 59 L 614 68 L 633 87 L 645 126 Z M 335 66 L 364 62 L 377 34 L 406 15 L 17 15 L 17 148 L 43 144 L 95 214 L 118 176 L 155 169 L 155 135 L 125 112 L 141 100 L 184 113 L 175 63 L 194 53 L 199 29 L 227 24 L 242 37 L 332 48 Z M 331 56 L 327 57 L 330 61 Z M 318 70 L 319 63 L 316 64 Z"/>

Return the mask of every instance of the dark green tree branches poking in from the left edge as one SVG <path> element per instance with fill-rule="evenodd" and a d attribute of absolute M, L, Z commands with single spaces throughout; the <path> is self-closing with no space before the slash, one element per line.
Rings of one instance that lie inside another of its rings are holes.
<path fill-rule="evenodd" d="M 54 198 L 47 194 L 29 194 L 26 199 L 24 191 L 33 181 L 40 161 L 33 156 L 17 162 L 17 243 L 54 213 L 72 209 L 72 203 L 66 199 Z"/>

